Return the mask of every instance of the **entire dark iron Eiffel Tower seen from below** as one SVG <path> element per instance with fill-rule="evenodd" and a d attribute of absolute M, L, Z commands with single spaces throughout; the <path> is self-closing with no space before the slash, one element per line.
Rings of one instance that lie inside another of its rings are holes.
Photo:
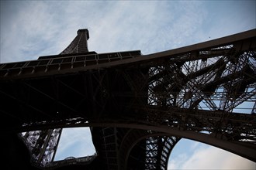
<path fill-rule="evenodd" d="M 0 64 L 5 169 L 167 169 L 182 138 L 256 162 L 256 29 L 142 55 L 88 51 Z M 244 111 L 245 110 L 245 111 Z M 95 155 L 54 161 L 62 128 Z"/>

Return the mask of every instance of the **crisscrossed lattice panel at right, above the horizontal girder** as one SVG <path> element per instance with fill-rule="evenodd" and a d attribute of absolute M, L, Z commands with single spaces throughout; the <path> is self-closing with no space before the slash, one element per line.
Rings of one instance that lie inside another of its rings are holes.
<path fill-rule="evenodd" d="M 255 52 L 235 53 L 232 49 L 223 46 L 181 56 L 181 60 L 189 59 L 186 62 L 151 67 L 149 103 L 251 114 L 255 101 Z"/>

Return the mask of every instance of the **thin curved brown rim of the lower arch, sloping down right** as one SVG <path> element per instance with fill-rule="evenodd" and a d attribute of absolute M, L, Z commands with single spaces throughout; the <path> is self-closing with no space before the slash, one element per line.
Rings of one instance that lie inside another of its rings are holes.
<path fill-rule="evenodd" d="M 244 158 L 250 159 L 256 162 L 256 150 L 254 148 L 248 147 L 246 145 L 241 145 L 241 143 L 227 141 L 222 138 L 216 138 L 213 134 L 203 134 L 195 131 L 182 131 L 179 128 L 170 128 L 168 126 L 159 125 L 151 126 L 149 124 L 132 124 L 132 123 L 86 123 L 86 124 L 67 124 L 61 127 L 52 128 L 74 128 L 74 127 L 116 127 L 116 128 L 133 128 L 142 130 L 158 131 L 165 134 L 170 134 L 170 136 L 176 136 L 180 138 L 188 138 L 193 141 L 199 141 L 208 145 L 215 146 L 217 148 L 222 148 L 226 151 L 230 151 L 236 155 L 240 155 Z"/>

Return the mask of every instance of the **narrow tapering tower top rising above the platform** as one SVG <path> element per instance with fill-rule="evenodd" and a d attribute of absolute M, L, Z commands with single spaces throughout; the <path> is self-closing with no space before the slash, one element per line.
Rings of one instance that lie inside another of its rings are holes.
<path fill-rule="evenodd" d="M 88 53 L 87 40 L 89 39 L 88 29 L 78 29 L 78 35 L 60 54 Z"/>

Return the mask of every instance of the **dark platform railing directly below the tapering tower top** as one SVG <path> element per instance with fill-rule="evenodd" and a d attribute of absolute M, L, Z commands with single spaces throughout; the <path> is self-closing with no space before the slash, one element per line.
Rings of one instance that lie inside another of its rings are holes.
<path fill-rule="evenodd" d="M 8 79 L 9 76 L 12 78 L 19 78 L 22 77 L 22 75 L 31 76 L 35 73 L 71 70 L 79 67 L 98 65 L 100 63 L 109 63 L 120 59 L 129 59 L 136 56 L 140 56 L 140 50 L 75 56 L 53 56 L 52 58 L 47 56 L 47 59 L 2 63 L 0 64 L 0 78 Z"/>

